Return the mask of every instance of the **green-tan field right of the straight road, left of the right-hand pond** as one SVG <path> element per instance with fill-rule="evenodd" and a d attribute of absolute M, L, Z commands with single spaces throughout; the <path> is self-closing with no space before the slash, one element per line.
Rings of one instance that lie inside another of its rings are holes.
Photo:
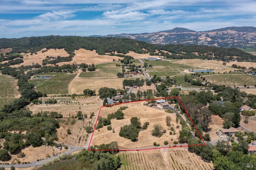
<path fill-rule="evenodd" d="M 175 76 L 180 74 L 181 71 L 186 69 L 198 69 L 198 67 L 193 67 L 185 64 L 174 63 L 174 60 L 167 61 L 144 61 L 148 65 L 152 65 L 152 68 L 146 68 L 147 73 L 150 76 L 154 76 L 155 74 L 160 77 Z"/>

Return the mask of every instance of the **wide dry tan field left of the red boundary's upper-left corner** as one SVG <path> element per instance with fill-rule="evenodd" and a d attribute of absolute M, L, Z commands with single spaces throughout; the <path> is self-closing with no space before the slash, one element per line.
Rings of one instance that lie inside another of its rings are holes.
<path fill-rule="evenodd" d="M 92 96 L 92 97 L 76 97 L 74 100 L 71 99 L 71 97 L 42 97 L 40 100 L 45 101 L 48 99 L 56 99 L 57 104 L 40 104 L 40 105 L 34 105 L 30 104 L 28 105 L 28 108 L 30 111 L 33 112 L 33 114 L 36 114 L 38 112 L 42 111 L 49 111 L 49 112 L 58 112 L 63 115 L 63 117 L 69 117 L 72 115 L 76 115 L 78 111 L 82 111 L 83 114 L 87 114 L 88 117 L 90 116 L 91 112 L 97 113 L 98 109 L 100 108 L 102 104 L 102 100 L 99 98 L 99 96 Z M 70 103 L 72 102 L 72 103 Z M 79 109 L 80 107 L 80 109 Z"/>

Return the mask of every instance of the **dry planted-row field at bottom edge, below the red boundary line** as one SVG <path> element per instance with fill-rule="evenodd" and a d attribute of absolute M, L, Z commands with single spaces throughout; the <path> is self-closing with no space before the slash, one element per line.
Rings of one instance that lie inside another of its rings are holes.
<path fill-rule="evenodd" d="M 212 163 L 204 162 L 200 156 L 188 152 L 188 148 L 166 148 L 120 152 L 120 170 L 212 170 Z"/>

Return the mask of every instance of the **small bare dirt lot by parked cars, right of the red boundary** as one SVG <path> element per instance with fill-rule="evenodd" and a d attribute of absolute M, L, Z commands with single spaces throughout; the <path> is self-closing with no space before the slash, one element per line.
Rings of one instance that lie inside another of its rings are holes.
<path fill-rule="evenodd" d="M 210 134 L 211 140 L 218 140 L 220 137 L 216 134 L 216 132 L 220 132 L 220 129 L 223 128 L 222 123 L 224 120 L 220 118 L 218 115 L 212 115 L 212 121 L 209 124 L 209 128 L 211 129 Z"/>

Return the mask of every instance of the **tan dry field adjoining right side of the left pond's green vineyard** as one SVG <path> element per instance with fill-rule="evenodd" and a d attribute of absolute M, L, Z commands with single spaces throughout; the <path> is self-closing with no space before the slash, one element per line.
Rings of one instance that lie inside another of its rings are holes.
<path fill-rule="evenodd" d="M 124 79 L 126 78 L 75 78 L 68 85 L 68 93 L 82 94 L 85 89 L 96 90 L 98 93 L 101 87 L 122 89 Z"/>

